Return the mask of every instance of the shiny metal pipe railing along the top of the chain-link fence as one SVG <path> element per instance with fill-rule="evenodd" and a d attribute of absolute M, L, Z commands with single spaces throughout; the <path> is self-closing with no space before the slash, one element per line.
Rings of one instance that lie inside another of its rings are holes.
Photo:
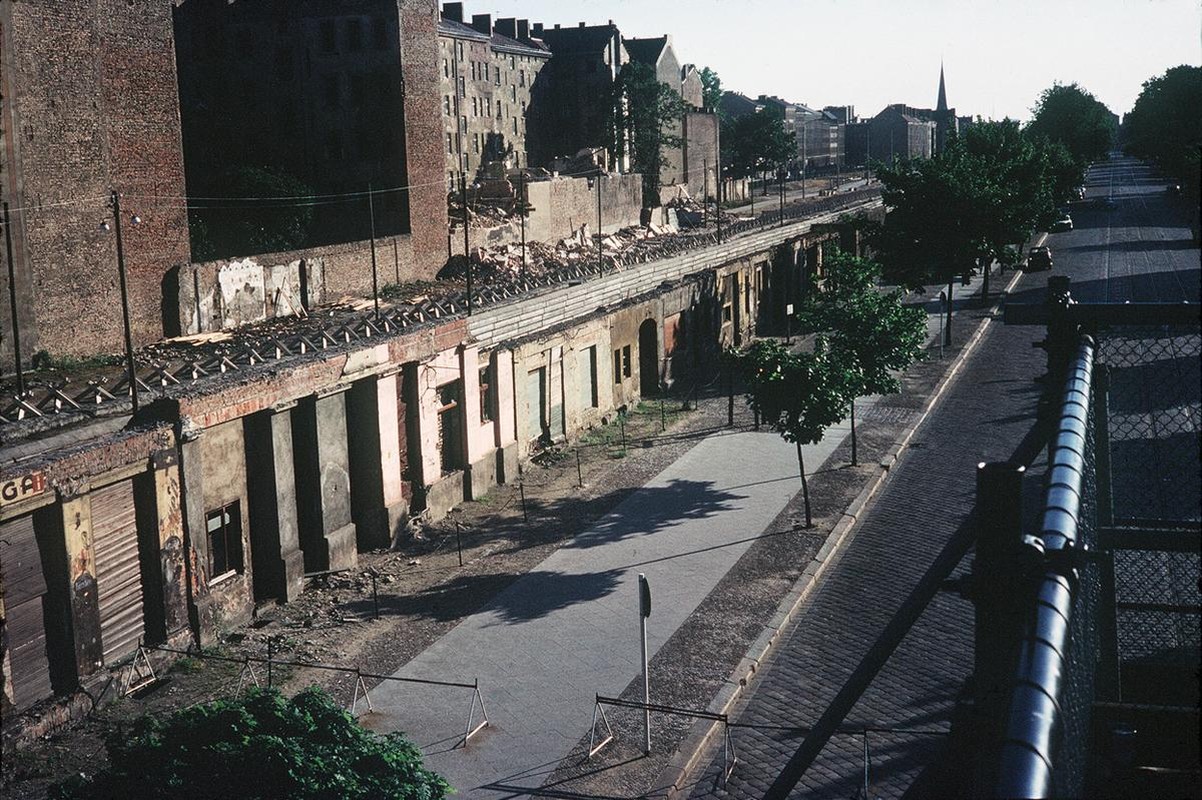
<path fill-rule="evenodd" d="M 1018 665 L 998 759 L 994 794 L 1045 798 L 1053 792 L 1061 692 L 1067 681 L 1070 621 L 1078 585 L 1081 508 L 1087 485 L 1094 341 L 1082 336 L 1069 366 L 1053 440 L 1041 533 L 1024 537 L 1037 559 L 1034 611 L 1019 641 Z"/>

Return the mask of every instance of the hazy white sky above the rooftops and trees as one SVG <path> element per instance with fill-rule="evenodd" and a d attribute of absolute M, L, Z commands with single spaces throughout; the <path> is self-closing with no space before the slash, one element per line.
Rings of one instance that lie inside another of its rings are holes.
<path fill-rule="evenodd" d="M 1200 0 L 465 0 L 464 13 L 672 34 L 682 62 L 726 89 L 862 117 L 934 107 L 940 59 L 958 114 L 1017 119 L 1057 80 L 1125 114 L 1148 78 L 1202 64 Z"/>

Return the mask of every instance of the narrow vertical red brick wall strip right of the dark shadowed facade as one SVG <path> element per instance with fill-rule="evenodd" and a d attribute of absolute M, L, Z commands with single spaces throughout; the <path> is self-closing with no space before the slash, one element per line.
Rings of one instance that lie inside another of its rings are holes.
<path fill-rule="evenodd" d="M 447 252 L 446 139 L 439 91 L 436 0 L 397 0 L 405 78 L 405 159 L 409 219 L 417 271 L 433 276 Z"/>

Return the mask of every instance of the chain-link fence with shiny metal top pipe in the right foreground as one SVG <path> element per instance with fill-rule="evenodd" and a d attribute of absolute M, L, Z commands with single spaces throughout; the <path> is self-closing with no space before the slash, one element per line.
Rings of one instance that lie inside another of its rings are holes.
<path fill-rule="evenodd" d="M 1049 315 L 1054 428 L 1040 531 L 1012 551 L 1023 589 L 994 764 L 1002 796 L 1083 796 L 1131 775 L 1115 742 L 1136 732 L 1115 721 L 1196 706 L 1202 662 L 1197 321 L 1071 303 Z"/>

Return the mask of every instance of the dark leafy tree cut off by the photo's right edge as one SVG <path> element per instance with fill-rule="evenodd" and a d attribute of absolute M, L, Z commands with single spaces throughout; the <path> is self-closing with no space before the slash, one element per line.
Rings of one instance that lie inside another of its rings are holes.
<path fill-rule="evenodd" d="M 1202 154 L 1202 66 L 1176 66 L 1148 79 L 1123 120 L 1126 150 L 1182 183 L 1198 205 Z"/>

